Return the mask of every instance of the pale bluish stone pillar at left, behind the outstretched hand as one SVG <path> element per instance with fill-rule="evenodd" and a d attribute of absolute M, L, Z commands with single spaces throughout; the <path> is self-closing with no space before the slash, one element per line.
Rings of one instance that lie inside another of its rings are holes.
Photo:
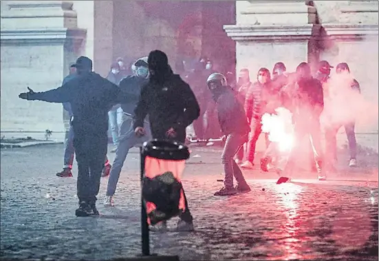
<path fill-rule="evenodd" d="M 61 85 L 78 56 L 85 30 L 76 26 L 70 1 L 4 1 L 1 12 L 1 135 L 63 140 L 62 105 L 22 101 L 34 91 Z M 3 3 L 3 1 L 2 1 Z"/>

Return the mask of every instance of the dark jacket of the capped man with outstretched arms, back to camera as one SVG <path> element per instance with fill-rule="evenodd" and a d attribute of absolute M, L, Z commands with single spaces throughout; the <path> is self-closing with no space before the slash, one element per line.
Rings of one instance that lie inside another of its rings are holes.
<path fill-rule="evenodd" d="M 120 88 L 95 72 L 79 74 L 63 86 L 30 94 L 28 100 L 70 103 L 75 134 L 106 135 L 108 112 L 116 103 L 129 101 Z"/>

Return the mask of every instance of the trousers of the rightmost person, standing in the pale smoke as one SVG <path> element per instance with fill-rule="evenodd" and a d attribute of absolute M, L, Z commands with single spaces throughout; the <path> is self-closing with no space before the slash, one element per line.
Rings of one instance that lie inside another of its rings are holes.
<path fill-rule="evenodd" d="M 328 162 L 337 159 L 337 132 L 340 127 L 345 127 L 347 140 L 349 142 L 350 158 L 356 158 L 356 133 L 354 132 L 354 123 L 345 125 L 335 124 L 325 129 L 326 155 Z"/>

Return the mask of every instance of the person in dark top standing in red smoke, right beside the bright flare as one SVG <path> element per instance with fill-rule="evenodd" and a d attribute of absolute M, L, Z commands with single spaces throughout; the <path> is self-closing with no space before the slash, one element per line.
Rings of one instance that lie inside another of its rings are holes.
<path fill-rule="evenodd" d="M 295 142 L 300 144 L 304 136 L 310 138 L 318 172 L 318 180 L 325 180 L 320 127 L 320 115 L 324 107 L 323 86 L 320 81 L 312 77 L 310 65 L 307 63 L 300 63 L 296 68 L 296 74 L 298 80 L 296 82 L 293 115 Z M 295 152 L 296 150 L 292 149 L 288 163 L 283 170 L 286 177 L 290 176 L 292 167 L 296 162 L 297 157 Z"/>

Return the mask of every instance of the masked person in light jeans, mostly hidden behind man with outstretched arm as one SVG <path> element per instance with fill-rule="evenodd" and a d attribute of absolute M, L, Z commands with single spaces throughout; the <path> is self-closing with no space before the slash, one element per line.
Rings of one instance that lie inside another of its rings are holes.
<path fill-rule="evenodd" d="M 111 64 L 111 70 L 107 76 L 107 80 L 111 83 L 118 85 L 122 79 L 120 74 L 120 65 L 118 63 Z M 113 141 L 113 149 L 111 152 L 116 152 L 118 146 L 118 129 L 122 121 L 122 109 L 119 104 L 114 105 L 108 112 L 109 115 L 109 125 L 111 127 L 111 136 Z M 107 172 L 109 174 L 109 172 Z"/>

